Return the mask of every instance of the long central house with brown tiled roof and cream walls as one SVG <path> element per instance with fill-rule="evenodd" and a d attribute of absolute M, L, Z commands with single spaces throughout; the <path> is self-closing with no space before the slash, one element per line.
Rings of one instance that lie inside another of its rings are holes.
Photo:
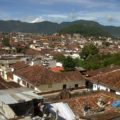
<path fill-rule="evenodd" d="M 13 80 L 21 86 L 41 92 L 58 91 L 63 88 L 78 89 L 85 86 L 84 78 L 79 71 L 57 73 L 38 65 L 14 71 Z"/>

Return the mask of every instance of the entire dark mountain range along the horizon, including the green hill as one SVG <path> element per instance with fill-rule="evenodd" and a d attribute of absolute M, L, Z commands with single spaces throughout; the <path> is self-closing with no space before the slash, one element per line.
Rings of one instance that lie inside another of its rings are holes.
<path fill-rule="evenodd" d="M 120 37 L 120 27 L 104 26 L 94 21 L 77 20 L 60 24 L 49 21 L 27 23 L 16 20 L 0 20 L 0 32 L 23 33 L 80 33 L 87 36 L 114 36 Z"/>

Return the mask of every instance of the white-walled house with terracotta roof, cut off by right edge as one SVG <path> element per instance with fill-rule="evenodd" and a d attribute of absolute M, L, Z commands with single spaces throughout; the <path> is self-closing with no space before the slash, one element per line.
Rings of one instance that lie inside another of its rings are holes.
<path fill-rule="evenodd" d="M 104 90 L 108 92 L 114 92 L 120 95 L 120 68 L 108 69 L 108 71 L 93 74 L 86 77 L 88 88 L 91 85 L 91 89 Z"/>

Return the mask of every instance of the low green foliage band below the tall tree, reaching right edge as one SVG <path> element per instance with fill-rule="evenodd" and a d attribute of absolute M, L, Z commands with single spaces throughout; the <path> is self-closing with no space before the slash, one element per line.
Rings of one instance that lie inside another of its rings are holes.
<path fill-rule="evenodd" d="M 120 53 L 108 55 L 89 55 L 86 60 L 80 60 L 79 63 L 81 67 L 84 67 L 89 70 L 103 68 L 109 65 L 120 66 Z"/>

